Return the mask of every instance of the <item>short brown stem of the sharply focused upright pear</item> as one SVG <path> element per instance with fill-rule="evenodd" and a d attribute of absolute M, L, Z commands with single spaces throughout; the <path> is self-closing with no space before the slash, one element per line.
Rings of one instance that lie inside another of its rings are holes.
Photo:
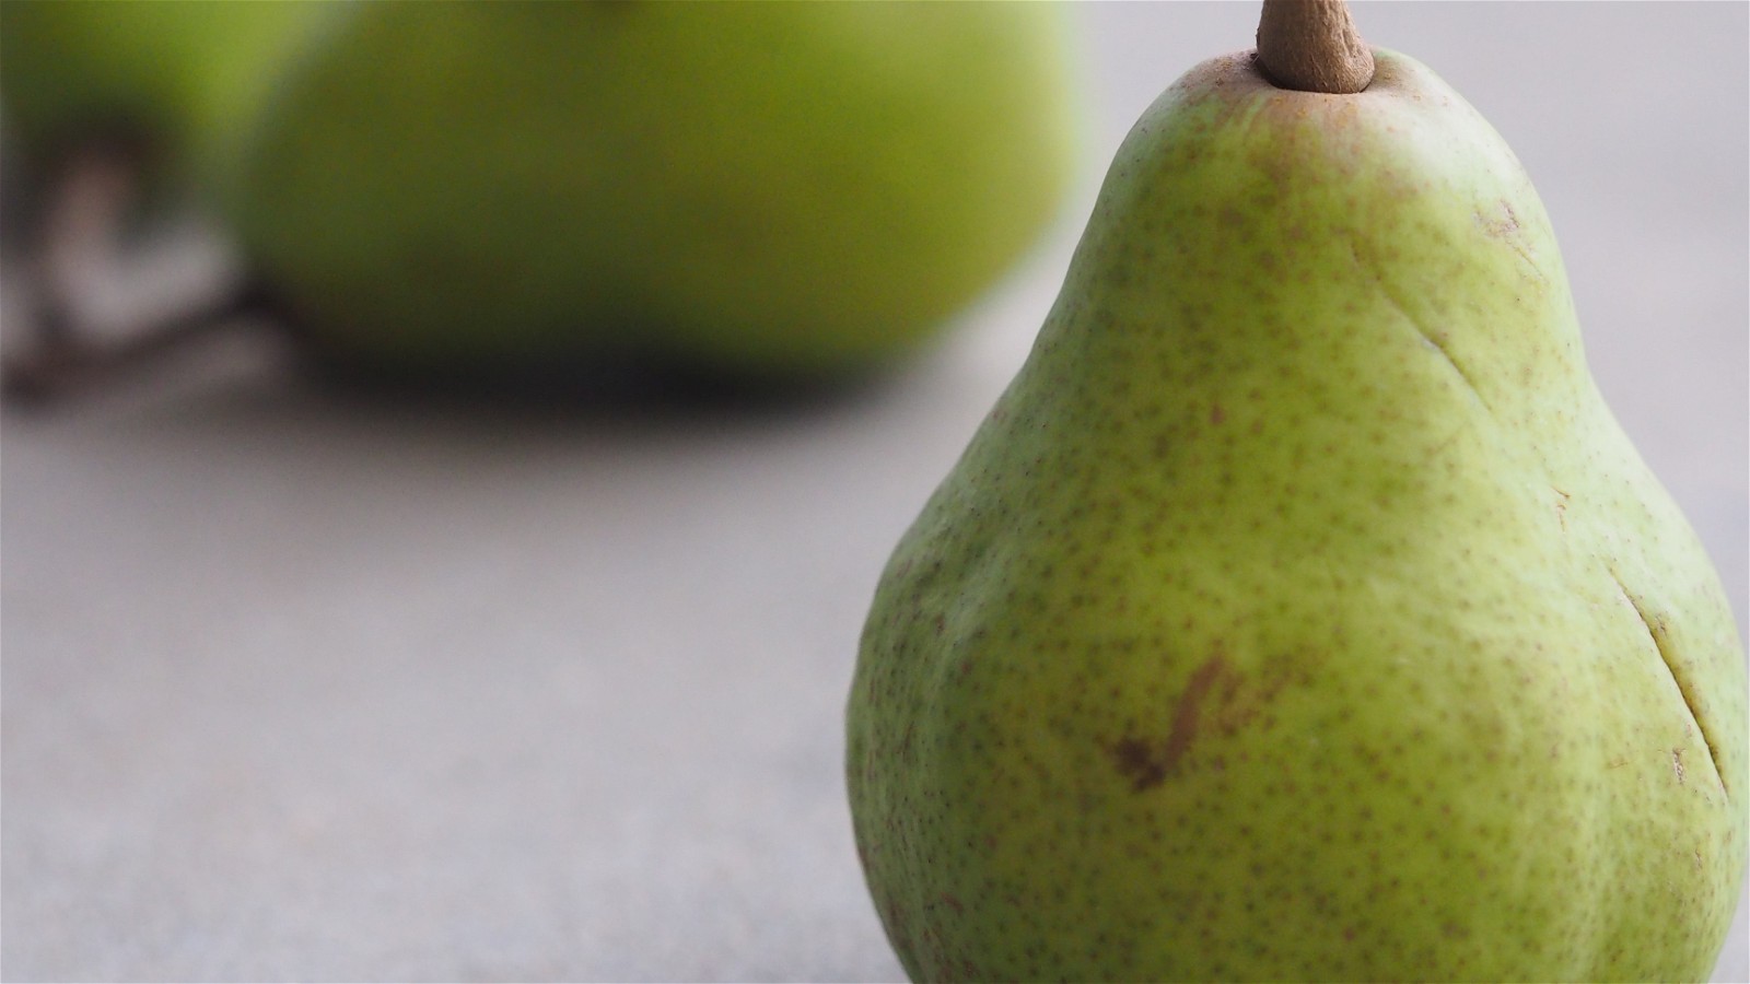
<path fill-rule="evenodd" d="M 1349 95 L 1374 81 L 1374 53 L 1342 0 L 1264 0 L 1258 70 L 1279 89 Z"/>

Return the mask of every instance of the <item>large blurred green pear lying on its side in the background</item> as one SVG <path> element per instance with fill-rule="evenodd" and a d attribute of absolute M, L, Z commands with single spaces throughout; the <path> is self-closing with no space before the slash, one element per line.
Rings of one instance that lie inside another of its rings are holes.
<path fill-rule="evenodd" d="M 854 371 L 1055 215 L 1064 28 L 1027 4 L 369 4 L 280 81 L 228 212 L 329 361 Z"/>

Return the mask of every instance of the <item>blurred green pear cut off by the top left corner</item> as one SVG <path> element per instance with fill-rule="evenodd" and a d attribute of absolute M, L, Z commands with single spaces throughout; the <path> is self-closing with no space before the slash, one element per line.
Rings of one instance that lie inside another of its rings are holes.
<path fill-rule="evenodd" d="M 206 180 L 280 60 L 329 7 L 5 0 L 0 117 L 33 168 L 122 138 L 150 151 L 156 184 Z"/>

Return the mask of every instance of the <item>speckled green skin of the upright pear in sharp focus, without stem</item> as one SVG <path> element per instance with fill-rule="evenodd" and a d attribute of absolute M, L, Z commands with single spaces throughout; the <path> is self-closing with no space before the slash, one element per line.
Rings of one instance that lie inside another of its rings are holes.
<path fill-rule="evenodd" d="M 1169 88 L 889 562 L 849 700 L 917 980 L 1699 980 L 1745 867 L 1718 580 L 1502 138 L 1376 49 Z"/>

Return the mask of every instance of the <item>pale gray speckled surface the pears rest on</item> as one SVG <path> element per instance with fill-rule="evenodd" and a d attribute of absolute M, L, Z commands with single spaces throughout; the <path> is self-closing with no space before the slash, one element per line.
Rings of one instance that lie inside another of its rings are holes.
<path fill-rule="evenodd" d="M 1024 357 L 1124 130 L 1246 47 L 1255 7 L 1083 19 L 1083 196 L 854 399 L 410 408 L 240 343 L 0 417 L 5 977 L 898 979 L 838 776 L 868 594 Z M 1743 625 L 1746 7 L 1358 19 L 1526 161 L 1596 375 Z M 1715 979 L 1750 979 L 1743 909 Z"/>

